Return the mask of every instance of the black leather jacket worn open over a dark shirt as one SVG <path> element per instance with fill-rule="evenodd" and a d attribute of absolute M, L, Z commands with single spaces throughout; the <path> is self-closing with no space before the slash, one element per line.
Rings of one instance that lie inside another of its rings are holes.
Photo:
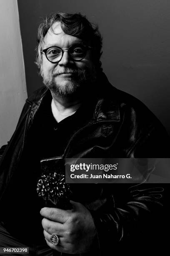
<path fill-rule="evenodd" d="M 169 138 L 153 113 L 135 97 L 112 87 L 104 74 L 99 81 L 93 116 L 72 134 L 62 158 L 169 157 Z M 49 91 L 42 87 L 26 100 L 15 133 L 1 150 L 1 199 L 17 169 L 27 131 L 47 93 Z M 152 223 L 155 225 L 162 206 L 163 189 L 153 187 L 150 184 L 100 184 L 91 201 L 80 199 L 94 218 L 102 255 L 109 255 L 112 248 L 121 247 L 122 243 L 134 246 L 138 239 L 148 239 L 150 227 Z"/>

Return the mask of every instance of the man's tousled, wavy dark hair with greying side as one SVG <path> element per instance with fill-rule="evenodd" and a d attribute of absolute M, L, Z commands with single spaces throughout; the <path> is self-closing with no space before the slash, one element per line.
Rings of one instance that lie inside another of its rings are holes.
<path fill-rule="evenodd" d="M 92 46 L 92 60 L 94 61 L 97 70 L 102 70 L 100 56 L 102 55 L 102 37 L 98 30 L 98 26 L 90 23 L 85 15 L 81 13 L 52 13 L 46 16 L 43 22 L 40 24 L 37 33 L 37 46 L 36 61 L 38 68 L 40 69 L 42 64 L 42 46 L 44 43 L 44 37 L 49 29 L 52 30 L 52 25 L 59 21 L 62 31 L 67 35 L 76 36 L 82 39 L 86 43 L 90 43 Z M 54 33 L 54 32 L 53 32 Z"/>

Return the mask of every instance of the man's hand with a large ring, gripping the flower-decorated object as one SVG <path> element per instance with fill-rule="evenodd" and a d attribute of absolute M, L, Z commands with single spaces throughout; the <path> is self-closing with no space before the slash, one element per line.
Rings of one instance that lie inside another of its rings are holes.
<path fill-rule="evenodd" d="M 96 228 L 92 215 L 87 208 L 70 201 L 73 209 L 61 210 L 44 207 L 40 214 L 44 236 L 50 248 L 63 253 L 86 253 L 92 248 L 96 236 Z M 50 236 L 56 234 L 60 238 L 57 246 L 50 243 Z"/>

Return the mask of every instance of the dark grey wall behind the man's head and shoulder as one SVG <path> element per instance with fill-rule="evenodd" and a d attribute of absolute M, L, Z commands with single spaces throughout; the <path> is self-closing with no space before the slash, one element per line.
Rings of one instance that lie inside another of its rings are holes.
<path fill-rule="evenodd" d="M 34 64 L 37 27 L 51 12 L 81 12 L 99 25 L 110 82 L 134 95 L 170 133 L 169 0 L 18 0 L 28 94 L 42 86 Z"/>

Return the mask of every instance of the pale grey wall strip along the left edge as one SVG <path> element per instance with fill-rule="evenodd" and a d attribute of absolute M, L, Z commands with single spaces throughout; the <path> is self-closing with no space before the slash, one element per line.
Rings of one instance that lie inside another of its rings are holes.
<path fill-rule="evenodd" d="M 0 146 L 12 136 L 27 97 L 17 0 L 0 0 Z"/>

